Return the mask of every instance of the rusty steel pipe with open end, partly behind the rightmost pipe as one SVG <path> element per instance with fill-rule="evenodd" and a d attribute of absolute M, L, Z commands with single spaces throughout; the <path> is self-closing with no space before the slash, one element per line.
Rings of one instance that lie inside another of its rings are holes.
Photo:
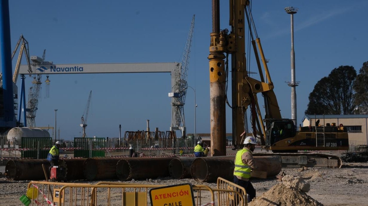
<path fill-rule="evenodd" d="M 169 174 L 174 179 L 192 178 L 191 165 L 193 161 L 198 157 L 178 157 L 174 158 L 169 163 Z M 203 157 L 212 158 L 212 157 Z M 230 158 L 234 159 L 235 156 L 217 156 L 216 158 Z"/>

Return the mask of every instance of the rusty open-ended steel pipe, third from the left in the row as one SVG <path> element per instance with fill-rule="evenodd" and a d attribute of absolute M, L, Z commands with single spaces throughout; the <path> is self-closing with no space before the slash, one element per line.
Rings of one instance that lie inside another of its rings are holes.
<path fill-rule="evenodd" d="M 123 158 L 87 158 L 83 163 L 84 177 L 88 180 L 117 179 L 116 164 L 121 159 Z"/>

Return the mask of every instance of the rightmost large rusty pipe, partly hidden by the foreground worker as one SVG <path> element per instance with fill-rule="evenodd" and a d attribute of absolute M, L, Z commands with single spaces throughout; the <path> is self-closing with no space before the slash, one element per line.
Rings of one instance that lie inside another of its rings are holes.
<path fill-rule="evenodd" d="M 280 173 L 281 163 L 276 157 L 262 156 L 254 157 L 257 170 L 266 171 L 268 177 L 273 177 Z M 234 158 L 197 158 L 191 166 L 191 174 L 197 182 L 215 182 L 217 177 L 233 180 Z"/>

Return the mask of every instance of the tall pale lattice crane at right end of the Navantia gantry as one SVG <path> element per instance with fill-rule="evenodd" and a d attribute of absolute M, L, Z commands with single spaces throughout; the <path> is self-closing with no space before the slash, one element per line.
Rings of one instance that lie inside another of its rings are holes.
<path fill-rule="evenodd" d="M 187 38 L 187 42 L 185 44 L 183 59 L 180 64 L 177 64 L 175 69 L 175 84 L 172 88 L 173 97 L 171 99 L 172 112 L 171 112 L 171 126 L 170 130 L 178 130 L 182 131 L 183 137 L 185 134 L 185 119 L 184 119 L 184 104 L 185 104 L 185 96 L 187 95 L 188 88 L 188 67 L 189 67 L 189 58 L 190 58 L 190 49 L 192 45 L 192 36 L 194 31 L 194 17 L 193 15 L 192 22 L 190 25 L 190 30 Z M 183 126 L 180 125 L 183 123 Z"/>

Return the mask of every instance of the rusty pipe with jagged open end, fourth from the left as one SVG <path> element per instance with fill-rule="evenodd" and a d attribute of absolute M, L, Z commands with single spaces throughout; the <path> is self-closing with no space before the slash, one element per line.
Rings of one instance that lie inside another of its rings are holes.
<path fill-rule="evenodd" d="M 169 163 L 176 157 L 121 159 L 116 165 L 116 175 L 122 180 L 147 179 L 169 176 Z"/>

